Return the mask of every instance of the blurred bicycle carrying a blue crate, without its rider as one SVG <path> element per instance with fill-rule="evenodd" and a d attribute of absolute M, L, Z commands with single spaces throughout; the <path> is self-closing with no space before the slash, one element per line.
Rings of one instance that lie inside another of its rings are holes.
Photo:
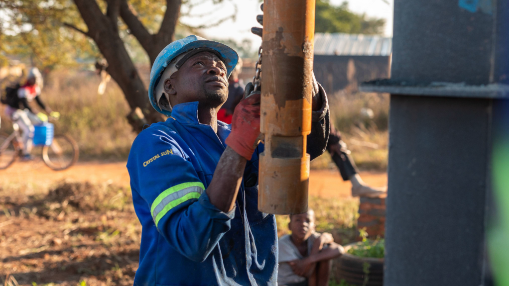
<path fill-rule="evenodd" d="M 51 118 L 58 120 L 58 118 Z M 55 171 L 65 170 L 78 161 L 78 144 L 68 135 L 53 135 L 53 124 L 46 120 L 34 125 L 34 147 L 42 146 L 42 160 Z M 18 124 L 13 124 L 11 135 L 0 133 L 0 170 L 7 169 L 22 156 L 23 141 Z"/>

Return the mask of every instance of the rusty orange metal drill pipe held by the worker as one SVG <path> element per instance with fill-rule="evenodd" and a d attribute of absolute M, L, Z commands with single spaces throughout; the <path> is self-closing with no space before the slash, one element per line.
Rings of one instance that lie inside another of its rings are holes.
<path fill-rule="evenodd" d="M 307 211 L 315 0 L 265 0 L 258 208 Z"/>

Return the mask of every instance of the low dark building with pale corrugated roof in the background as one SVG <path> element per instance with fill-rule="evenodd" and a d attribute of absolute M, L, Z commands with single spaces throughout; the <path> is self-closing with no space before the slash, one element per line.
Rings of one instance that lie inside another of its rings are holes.
<path fill-rule="evenodd" d="M 342 33 L 315 34 L 315 76 L 328 94 L 389 76 L 390 38 Z"/>

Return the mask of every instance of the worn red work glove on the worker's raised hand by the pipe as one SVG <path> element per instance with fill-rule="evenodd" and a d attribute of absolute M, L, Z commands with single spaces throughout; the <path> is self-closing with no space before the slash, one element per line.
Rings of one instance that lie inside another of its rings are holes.
<path fill-rule="evenodd" d="M 251 160 L 260 143 L 260 92 L 251 93 L 235 107 L 232 132 L 225 143 L 239 155 Z"/>

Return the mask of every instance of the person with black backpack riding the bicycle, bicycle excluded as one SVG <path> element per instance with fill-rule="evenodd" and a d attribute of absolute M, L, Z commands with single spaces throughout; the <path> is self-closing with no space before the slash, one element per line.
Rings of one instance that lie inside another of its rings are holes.
<path fill-rule="evenodd" d="M 35 130 L 33 121 L 38 121 L 38 119 L 36 119 L 37 116 L 29 106 L 29 102 L 35 100 L 46 113 L 52 116 L 58 116 L 56 112 L 52 112 L 51 109 L 41 101 L 42 82 L 43 79 L 39 70 L 37 68 L 32 68 L 26 78 L 26 83 L 23 85 L 18 84 L 15 88 L 8 91 L 5 101 L 3 101 L 7 104 L 5 110 L 6 115 L 11 118 L 12 123 L 17 124 L 21 130 L 23 142 L 22 152 L 26 160 L 32 158 L 30 152 L 32 150 L 32 140 Z"/>

